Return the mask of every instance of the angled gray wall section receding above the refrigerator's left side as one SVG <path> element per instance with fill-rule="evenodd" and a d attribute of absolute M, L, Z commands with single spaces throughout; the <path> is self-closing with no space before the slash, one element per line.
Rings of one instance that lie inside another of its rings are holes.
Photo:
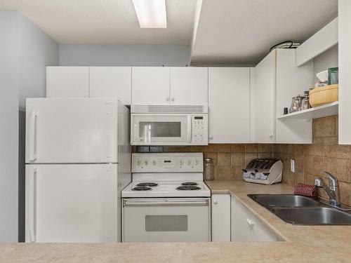
<path fill-rule="evenodd" d="M 57 66 L 59 46 L 37 25 L 19 15 L 20 108 L 27 97 L 45 97 L 45 66 Z"/>

